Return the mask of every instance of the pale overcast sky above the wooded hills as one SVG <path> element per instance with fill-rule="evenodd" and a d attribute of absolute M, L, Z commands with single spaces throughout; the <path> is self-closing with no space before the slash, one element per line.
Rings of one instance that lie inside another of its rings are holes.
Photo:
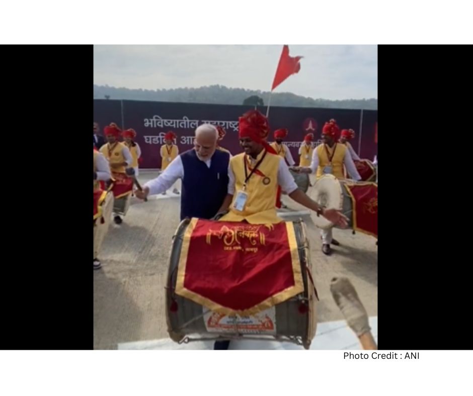
<path fill-rule="evenodd" d="M 162 89 L 220 84 L 269 90 L 282 45 L 96 45 L 94 83 Z M 301 68 L 275 92 L 377 98 L 375 45 L 289 45 Z"/>

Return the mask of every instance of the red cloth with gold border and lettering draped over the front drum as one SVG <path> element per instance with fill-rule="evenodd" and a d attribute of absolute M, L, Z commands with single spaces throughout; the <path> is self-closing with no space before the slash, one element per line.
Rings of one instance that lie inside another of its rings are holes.
<path fill-rule="evenodd" d="M 220 314 L 248 316 L 300 293 L 293 227 L 291 222 L 192 219 L 184 234 L 176 294 Z"/>

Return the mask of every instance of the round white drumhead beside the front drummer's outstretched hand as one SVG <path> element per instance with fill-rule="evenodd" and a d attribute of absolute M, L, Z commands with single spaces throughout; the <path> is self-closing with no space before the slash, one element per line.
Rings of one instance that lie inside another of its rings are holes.
<path fill-rule="evenodd" d="M 340 181 L 332 174 L 322 176 L 310 190 L 310 198 L 319 205 L 327 209 L 343 209 L 343 191 Z M 322 229 L 329 229 L 334 226 L 323 216 L 317 216 L 317 213 L 310 214 L 313 223 Z"/>

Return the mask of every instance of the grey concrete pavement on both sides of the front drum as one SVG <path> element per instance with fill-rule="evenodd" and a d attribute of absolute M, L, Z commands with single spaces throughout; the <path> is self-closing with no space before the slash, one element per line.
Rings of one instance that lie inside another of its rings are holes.
<path fill-rule="evenodd" d="M 155 177 L 141 172 L 139 180 Z M 291 210 L 304 210 L 287 196 Z M 164 286 L 171 237 L 179 224 L 180 197 L 133 198 L 120 226 L 110 226 L 102 246 L 103 268 L 94 271 L 94 348 L 116 349 L 118 344 L 167 338 Z M 285 220 L 291 220 L 286 218 Z M 295 220 L 295 219 L 294 219 Z M 349 230 L 334 230 L 342 244 L 332 256 L 321 251 L 319 230 L 304 216 L 314 280 L 320 296 L 318 322 L 342 320 L 332 299 L 333 276 L 347 276 L 355 286 L 370 317 L 377 316 L 377 247 L 373 237 Z M 92 271 L 92 269 L 91 269 Z"/>

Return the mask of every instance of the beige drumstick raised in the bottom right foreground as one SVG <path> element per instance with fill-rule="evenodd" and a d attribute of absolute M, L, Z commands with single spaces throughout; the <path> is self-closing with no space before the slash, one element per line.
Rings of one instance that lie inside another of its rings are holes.
<path fill-rule="evenodd" d="M 350 280 L 345 277 L 333 278 L 330 291 L 348 326 L 358 336 L 363 349 L 378 349 L 371 334 L 368 314 Z"/>

